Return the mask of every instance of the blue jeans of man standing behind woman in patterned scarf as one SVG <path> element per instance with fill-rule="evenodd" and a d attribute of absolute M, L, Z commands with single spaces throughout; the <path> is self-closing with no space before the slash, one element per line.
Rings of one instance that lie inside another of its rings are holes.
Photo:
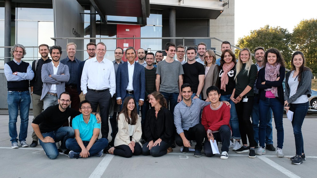
<path fill-rule="evenodd" d="M 251 113 L 252 126 L 254 132 L 254 140 L 256 141 L 256 145 L 259 143 L 259 104 L 257 103 L 258 98 L 254 97 L 253 102 L 253 110 Z M 273 127 L 272 127 L 272 109 L 268 110 L 268 122 L 266 125 L 266 135 L 265 135 L 265 144 L 273 144 Z"/>

